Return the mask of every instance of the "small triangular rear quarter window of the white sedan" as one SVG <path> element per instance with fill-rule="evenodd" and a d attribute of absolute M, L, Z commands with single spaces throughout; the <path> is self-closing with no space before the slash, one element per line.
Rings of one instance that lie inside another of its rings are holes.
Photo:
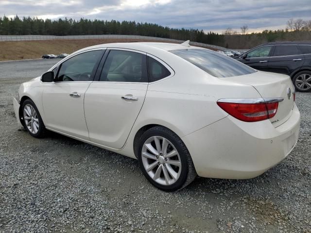
<path fill-rule="evenodd" d="M 171 72 L 161 63 L 148 57 L 149 82 L 155 82 L 171 75 Z"/>

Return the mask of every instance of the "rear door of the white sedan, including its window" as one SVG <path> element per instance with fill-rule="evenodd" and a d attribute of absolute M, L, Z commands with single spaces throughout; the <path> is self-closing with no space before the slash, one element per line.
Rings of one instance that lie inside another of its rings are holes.
<path fill-rule="evenodd" d="M 107 49 L 104 57 L 85 94 L 86 124 L 90 141 L 120 149 L 145 100 L 146 53 Z"/>

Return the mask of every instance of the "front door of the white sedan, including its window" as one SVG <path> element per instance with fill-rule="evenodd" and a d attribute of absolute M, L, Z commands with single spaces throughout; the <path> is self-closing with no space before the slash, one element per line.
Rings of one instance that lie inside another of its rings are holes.
<path fill-rule="evenodd" d="M 102 55 L 103 50 L 92 50 L 73 56 L 60 65 L 55 82 L 44 83 L 47 128 L 88 140 L 84 97 Z"/>

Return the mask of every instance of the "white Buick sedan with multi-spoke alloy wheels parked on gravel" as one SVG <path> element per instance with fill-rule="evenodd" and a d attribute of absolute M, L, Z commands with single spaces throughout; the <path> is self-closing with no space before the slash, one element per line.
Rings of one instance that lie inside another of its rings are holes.
<path fill-rule="evenodd" d="M 178 190 L 198 175 L 249 179 L 294 148 L 300 113 L 289 76 L 217 52 L 115 43 L 70 54 L 22 83 L 18 121 L 139 161 L 150 183 Z"/>

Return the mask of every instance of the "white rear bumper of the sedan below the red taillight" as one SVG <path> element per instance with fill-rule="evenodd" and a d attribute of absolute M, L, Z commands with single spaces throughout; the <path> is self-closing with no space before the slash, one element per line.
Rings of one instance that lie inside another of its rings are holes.
<path fill-rule="evenodd" d="M 249 179 L 276 166 L 298 140 L 300 113 L 274 128 L 269 120 L 242 122 L 227 116 L 183 137 L 199 176 Z"/>

